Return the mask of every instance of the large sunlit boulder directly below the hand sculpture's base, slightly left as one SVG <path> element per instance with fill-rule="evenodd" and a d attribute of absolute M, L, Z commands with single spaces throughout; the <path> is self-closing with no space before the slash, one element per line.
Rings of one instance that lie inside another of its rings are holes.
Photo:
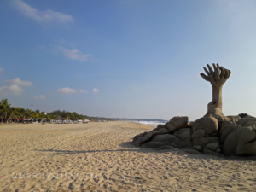
<path fill-rule="evenodd" d="M 197 119 L 193 125 L 193 132 L 197 130 L 204 130 L 205 137 L 212 137 L 218 134 L 218 120 L 211 116 Z"/>

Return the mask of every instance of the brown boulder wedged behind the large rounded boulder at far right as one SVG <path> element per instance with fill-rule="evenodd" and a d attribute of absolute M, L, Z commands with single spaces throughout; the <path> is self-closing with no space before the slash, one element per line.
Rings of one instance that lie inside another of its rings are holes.
<path fill-rule="evenodd" d="M 240 129 L 241 125 L 237 125 L 236 121 L 234 119 L 230 120 L 230 121 L 224 121 L 221 125 L 220 125 L 220 143 L 224 143 L 226 137 L 231 133 L 236 131 L 237 129 Z"/>

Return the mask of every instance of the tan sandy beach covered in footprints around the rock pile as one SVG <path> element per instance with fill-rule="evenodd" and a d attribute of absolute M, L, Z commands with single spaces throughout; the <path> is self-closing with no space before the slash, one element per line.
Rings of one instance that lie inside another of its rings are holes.
<path fill-rule="evenodd" d="M 255 158 L 136 148 L 149 125 L 0 125 L 0 191 L 256 191 Z"/>

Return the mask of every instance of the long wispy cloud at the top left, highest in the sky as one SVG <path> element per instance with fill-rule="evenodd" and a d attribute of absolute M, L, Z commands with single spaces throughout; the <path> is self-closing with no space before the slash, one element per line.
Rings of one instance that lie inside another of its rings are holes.
<path fill-rule="evenodd" d="M 38 9 L 32 8 L 30 5 L 20 0 L 15 0 L 14 5 L 22 15 L 25 15 L 26 17 L 38 22 L 67 23 L 73 21 L 73 17 L 71 15 L 61 14 L 60 12 L 55 12 L 52 10 L 38 11 Z"/>

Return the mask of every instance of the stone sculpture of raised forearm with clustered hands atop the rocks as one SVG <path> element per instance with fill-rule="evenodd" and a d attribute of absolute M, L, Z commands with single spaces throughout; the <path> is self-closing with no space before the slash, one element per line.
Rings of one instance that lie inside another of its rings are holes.
<path fill-rule="evenodd" d="M 201 73 L 201 77 L 212 84 L 212 102 L 208 104 L 208 111 L 207 114 L 212 115 L 221 115 L 224 116 L 222 113 L 222 87 L 227 79 L 230 77 L 230 70 L 225 69 L 224 67 L 219 67 L 217 63 L 216 65 L 213 63 L 214 71 L 212 67 L 207 64 L 208 70 L 204 67 L 205 72 Z"/>

